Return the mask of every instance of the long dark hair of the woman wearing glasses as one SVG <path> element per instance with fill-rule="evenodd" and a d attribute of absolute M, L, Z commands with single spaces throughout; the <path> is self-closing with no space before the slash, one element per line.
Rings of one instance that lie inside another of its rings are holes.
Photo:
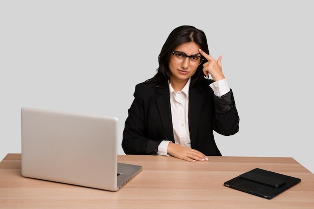
<path fill-rule="evenodd" d="M 203 31 L 193 26 L 180 26 L 170 33 L 158 58 L 159 68 L 156 70 L 157 73 L 153 78 L 148 79 L 147 81 L 158 84 L 168 83 L 170 80 L 168 63 L 170 54 L 178 45 L 188 42 L 195 42 L 204 52 L 209 54 L 206 35 Z M 204 73 L 202 69 L 205 62 L 207 62 L 207 60 L 204 58 L 204 61 L 197 68 L 195 74 L 191 78 L 191 85 L 194 85 L 203 79 Z"/>

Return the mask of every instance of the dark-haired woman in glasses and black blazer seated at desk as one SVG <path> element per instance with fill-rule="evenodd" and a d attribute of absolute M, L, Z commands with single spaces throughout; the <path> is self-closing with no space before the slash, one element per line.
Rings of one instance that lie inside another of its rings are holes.
<path fill-rule="evenodd" d="M 221 155 L 213 130 L 222 135 L 239 130 L 221 59 L 209 55 L 203 31 L 193 26 L 174 29 L 159 55 L 157 73 L 135 86 L 123 130 L 124 152 L 191 162 Z"/>

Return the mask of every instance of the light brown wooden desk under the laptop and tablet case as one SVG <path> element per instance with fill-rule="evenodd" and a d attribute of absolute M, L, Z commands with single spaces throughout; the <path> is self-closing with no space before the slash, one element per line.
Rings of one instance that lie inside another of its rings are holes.
<path fill-rule="evenodd" d="M 192 163 L 119 155 L 118 161 L 143 169 L 119 191 L 104 191 L 23 177 L 21 154 L 8 154 L 0 162 L 0 208 L 314 208 L 314 175 L 293 158 L 214 156 Z M 270 200 L 223 185 L 256 167 L 301 182 Z"/>

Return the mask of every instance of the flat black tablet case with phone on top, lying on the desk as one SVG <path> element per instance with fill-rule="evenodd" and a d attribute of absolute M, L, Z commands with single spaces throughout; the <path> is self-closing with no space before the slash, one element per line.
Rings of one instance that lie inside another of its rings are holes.
<path fill-rule="evenodd" d="M 301 179 L 255 168 L 224 183 L 233 189 L 244 191 L 266 199 L 299 183 Z"/>

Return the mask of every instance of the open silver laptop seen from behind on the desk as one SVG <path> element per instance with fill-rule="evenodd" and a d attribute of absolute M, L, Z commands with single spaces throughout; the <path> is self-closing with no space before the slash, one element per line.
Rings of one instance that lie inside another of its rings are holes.
<path fill-rule="evenodd" d="M 142 169 L 117 162 L 115 117 L 23 107 L 22 175 L 110 191 Z"/>

